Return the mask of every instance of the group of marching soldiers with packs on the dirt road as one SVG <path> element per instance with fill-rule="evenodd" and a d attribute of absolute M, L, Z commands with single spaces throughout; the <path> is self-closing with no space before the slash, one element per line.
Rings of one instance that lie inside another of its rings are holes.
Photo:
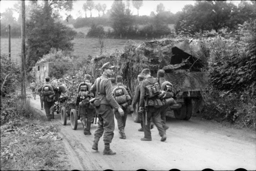
<path fill-rule="evenodd" d="M 113 68 L 114 66 L 110 62 L 105 63 L 101 68 L 103 74 L 95 80 L 93 85 L 90 83 L 91 76 L 86 74 L 85 81 L 80 83 L 77 90 L 75 103 L 79 106 L 84 135 L 91 135 L 91 123 L 93 123 L 95 116 L 98 118 L 92 149 L 98 151 L 98 142 L 103 136 L 103 155 L 116 154 L 110 149 L 115 129 L 114 117 L 117 120 L 119 138 L 126 139 L 124 128 L 127 114 L 133 112 L 136 104 L 139 106 L 138 117 L 141 123 L 141 128 L 138 131 L 144 131 L 144 137 L 141 140 L 152 140 L 150 129 L 155 124 L 161 136 L 161 141 L 165 141 L 166 130 L 169 128 L 165 123 L 165 115 L 170 104 L 176 103 L 172 99 L 172 84 L 164 78 L 165 71 L 158 70 L 158 78 L 155 78 L 151 76 L 150 69 L 143 69 L 137 76 L 139 85 L 136 86 L 133 99 L 131 99 L 132 95 L 129 88 L 123 85 L 122 76 L 110 79 L 114 73 Z M 46 78 L 46 85 L 50 85 L 49 77 Z M 65 90 L 61 91 L 59 87 L 53 85 L 47 87 L 46 85 L 40 86 L 38 92 L 47 96 L 44 99 L 44 107 L 46 116 L 50 121 L 54 101 L 51 101 L 48 97 L 51 96 L 48 91 L 55 90 L 61 94 Z"/>

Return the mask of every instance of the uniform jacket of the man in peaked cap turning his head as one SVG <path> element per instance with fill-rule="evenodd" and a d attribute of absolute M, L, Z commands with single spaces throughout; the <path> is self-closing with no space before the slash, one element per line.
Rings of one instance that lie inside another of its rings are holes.
<path fill-rule="evenodd" d="M 99 84 L 100 79 L 101 82 L 99 85 L 99 90 L 97 90 L 97 86 Z M 101 104 L 110 105 L 115 109 L 120 107 L 113 97 L 112 84 L 106 74 L 102 74 L 101 77 L 98 77 L 96 79 L 95 83 L 91 86 L 90 91 L 96 92 L 96 97 L 100 97 L 99 101 L 101 101 Z M 97 91 L 99 92 L 99 94 L 97 94 Z"/>

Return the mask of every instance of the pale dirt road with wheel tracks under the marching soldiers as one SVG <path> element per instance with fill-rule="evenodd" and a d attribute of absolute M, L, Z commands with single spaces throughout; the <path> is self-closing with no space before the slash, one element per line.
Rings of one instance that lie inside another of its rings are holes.
<path fill-rule="evenodd" d="M 40 99 L 31 99 L 31 104 L 40 110 Z M 45 117 L 46 118 L 46 117 Z M 115 120 L 115 135 L 110 147 L 116 155 L 103 155 L 104 143 L 99 141 L 99 151 L 91 149 L 93 135 L 84 135 L 78 121 L 77 130 L 72 130 L 70 121 L 61 124 L 55 114 L 50 124 L 60 129 L 71 167 L 77 170 L 256 170 L 256 135 L 254 131 L 238 130 L 221 126 L 213 121 L 191 118 L 180 121 L 168 118 L 170 127 L 167 140 L 161 142 L 157 128 L 151 130 L 152 141 L 141 141 L 143 132 L 137 131 L 140 124 L 128 115 L 125 133 L 127 139 L 119 139 Z M 91 132 L 96 129 L 92 124 Z"/>

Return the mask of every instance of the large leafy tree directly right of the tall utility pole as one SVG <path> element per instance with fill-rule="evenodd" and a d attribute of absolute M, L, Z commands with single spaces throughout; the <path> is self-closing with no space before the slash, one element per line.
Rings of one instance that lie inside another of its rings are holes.
<path fill-rule="evenodd" d="M 37 5 L 37 8 L 31 11 L 31 16 L 26 22 L 26 69 L 28 72 L 38 59 L 42 58 L 44 54 L 48 54 L 51 48 L 73 50 L 71 41 L 76 32 L 60 22 L 55 22 L 54 17 L 58 14 L 53 14 L 53 7 L 49 5 L 48 1 L 44 1 L 43 6 Z"/>

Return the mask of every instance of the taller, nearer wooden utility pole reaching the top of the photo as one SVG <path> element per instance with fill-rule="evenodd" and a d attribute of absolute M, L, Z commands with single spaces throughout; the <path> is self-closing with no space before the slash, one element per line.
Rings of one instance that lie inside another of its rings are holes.
<path fill-rule="evenodd" d="M 22 77 L 22 83 L 21 83 L 21 95 L 22 95 L 22 101 L 25 104 L 26 102 L 26 55 L 25 55 L 25 1 L 21 1 L 22 5 L 22 20 L 21 20 L 21 77 Z"/>

